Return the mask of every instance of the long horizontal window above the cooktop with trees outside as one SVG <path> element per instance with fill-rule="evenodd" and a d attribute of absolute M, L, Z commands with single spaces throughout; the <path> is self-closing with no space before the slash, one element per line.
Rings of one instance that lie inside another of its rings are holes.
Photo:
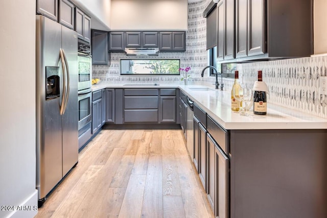
<path fill-rule="evenodd" d="M 179 60 L 121 60 L 121 75 L 179 75 Z"/>

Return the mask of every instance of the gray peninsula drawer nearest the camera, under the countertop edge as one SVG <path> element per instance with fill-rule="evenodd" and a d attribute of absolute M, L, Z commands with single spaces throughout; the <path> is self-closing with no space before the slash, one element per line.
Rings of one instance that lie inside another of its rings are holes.
<path fill-rule="evenodd" d="M 228 154 L 229 146 L 228 146 L 228 132 L 221 128 L 215 120 L 213 120 L 210 116 L 207 116 L 207 131 L 210 135 L 213 136 L 215 141 L 218 143 L 219 147 Z"/>

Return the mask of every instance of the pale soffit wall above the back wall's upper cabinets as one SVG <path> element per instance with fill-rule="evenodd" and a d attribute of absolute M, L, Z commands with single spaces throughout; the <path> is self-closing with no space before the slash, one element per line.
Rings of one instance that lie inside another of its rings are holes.
<path fill-rule="evenodd" d="M 187 0 L 111 0 L 111 30 L 187 29 Z"/>

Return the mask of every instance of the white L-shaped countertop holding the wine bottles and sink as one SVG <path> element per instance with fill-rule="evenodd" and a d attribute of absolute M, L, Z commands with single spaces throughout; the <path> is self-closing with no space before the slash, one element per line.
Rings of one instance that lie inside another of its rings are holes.
<path fill-rule="evenodd" d="M 180 88 L 197 105 L 208 113 L 220 126 L 226 130 L 237 129 L 327 129 L 327 119 L 311 114 L 294 111 L 268 103 L 267 115 L 242 116 L 230 108 L 230 91 L 195 90 L 192 88 L 207 87 L 204 85 L 160 84 L 154 85 L 124 85 L 100 84 L 92 85 L 92 91 L 103 88 Z"/>

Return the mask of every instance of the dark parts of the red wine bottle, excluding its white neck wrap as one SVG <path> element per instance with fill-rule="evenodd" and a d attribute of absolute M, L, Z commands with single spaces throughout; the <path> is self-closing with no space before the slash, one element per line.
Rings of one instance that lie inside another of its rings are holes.
<path fill-rule="evenodd" d="M 262 70 L 258 71 L 258 81 L 262 82 Z M 254 91 L 253 113 L 258 115 L 267 114 L 267 94 L 265 91 Z"/>

